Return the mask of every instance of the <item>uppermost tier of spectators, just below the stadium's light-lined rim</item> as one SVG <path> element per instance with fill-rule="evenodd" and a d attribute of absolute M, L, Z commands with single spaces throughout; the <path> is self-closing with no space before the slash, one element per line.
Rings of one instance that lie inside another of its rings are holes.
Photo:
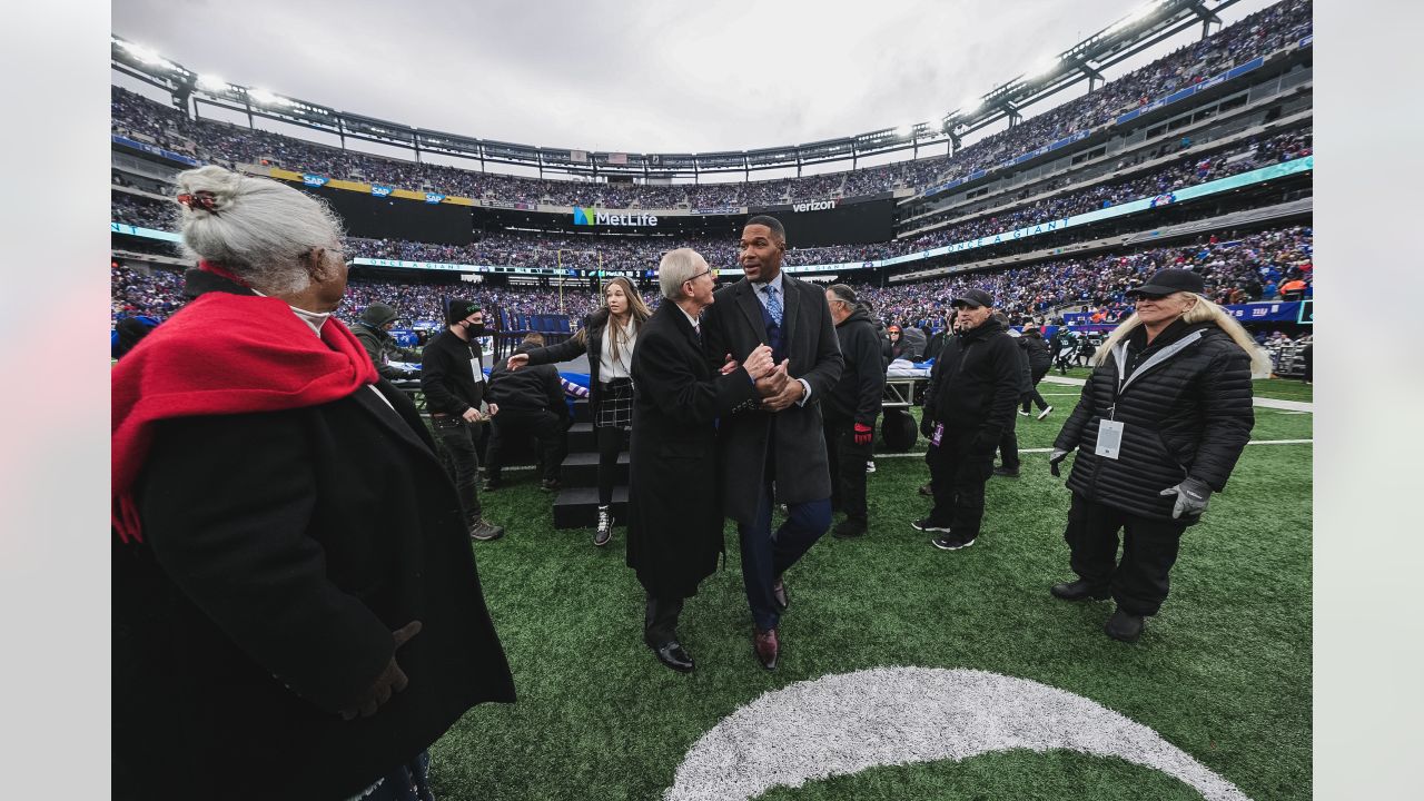
<path fill-rule="evenodd" d="M 827 195 L 876 194 L 901 187 L 927 188 L 991 168 L 1304 38 L 1312 33 L 1312 0 L 1283 0 L 953 155 L 803 178 L 709 185 L 628 185 L 476 172 L 319 145 L 228 123 L 191 120 L 178 110 L 120 87 L 114 87 L 111 93 L 112 133 L 137 135 L 229 168 L 236 168 L 238 164 L 278 165 L 335 178 L 507 202 L 608 208 L 775 205 Z"/>

